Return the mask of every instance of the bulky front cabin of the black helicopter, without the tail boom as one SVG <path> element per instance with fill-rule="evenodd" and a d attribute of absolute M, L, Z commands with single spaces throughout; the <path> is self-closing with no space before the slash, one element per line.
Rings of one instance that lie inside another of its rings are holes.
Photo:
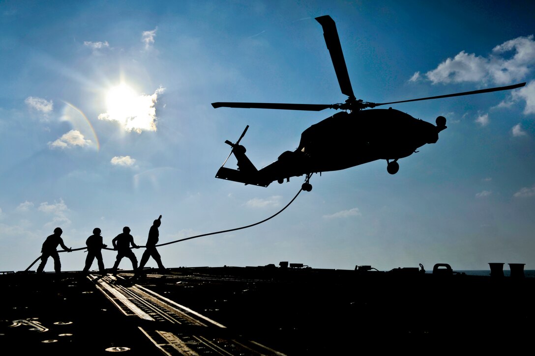
<path fill-rule="evenodd" d="M 297 151 L 312 158 L 310 172 L 338 171 L 377 159 L 410 156 L 438 140 L 437 127 L 394 109 L 339 112 L 301 135 Z"/>

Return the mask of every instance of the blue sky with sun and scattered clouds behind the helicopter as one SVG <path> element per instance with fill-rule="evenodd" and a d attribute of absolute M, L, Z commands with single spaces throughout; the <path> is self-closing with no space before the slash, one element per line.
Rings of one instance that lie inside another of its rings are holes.
<path fill-rule="evenodd" d="M 240 143 L 261 168 L 337 111 L 210 104 L 344 102 L 323 15 L 358 99 L 526 86 L 392 105 L 443 115 L 448 128 L 395 175 L 384 160 L 315 174 L 275 218 L 159 247 L 163 264 L 535 269 L 534 13 L 532 1 L 3 1 L 0 271 L 25 270 L 56 227 L 72 248 L 95 227 L 109 246 L 124 226 L 144 245 L 160 214 L 166 243 L 280 211 L 304 177 L 268 188 L 216 179 L 225 140 L 249 125 Z M 111 267 L 116 253 L 103 256 Z M 60 253 L 63 270 L 85 257 Z"/>

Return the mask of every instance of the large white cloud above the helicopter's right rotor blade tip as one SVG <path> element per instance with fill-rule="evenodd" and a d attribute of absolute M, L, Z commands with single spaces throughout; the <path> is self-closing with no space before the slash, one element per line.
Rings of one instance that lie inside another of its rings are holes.
<path fill-rule="evenodd" d="M 511 52 L 514 54 L 511 56 Z M 493 48 L 488 57 L 461 51 L 425 74 L 433 84 L 492 82 L 508 84 L 525 78 L 535 64 L 533 35 L 517 37 Z"/>

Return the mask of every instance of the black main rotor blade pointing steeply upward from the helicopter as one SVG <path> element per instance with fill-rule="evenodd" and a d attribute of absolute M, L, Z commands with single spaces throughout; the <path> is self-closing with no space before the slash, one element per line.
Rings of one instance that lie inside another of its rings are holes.
<path fill-rule="evenodd" d="M 329 53 L 331 53 L 331 60 L 342 94 L 354 98 L 355 95 L 353 94 L 353 88 L 351 88 L 346 60 L 343 58 L 342 45 L 340 44 L 340 37 L 338 36 L 336 24 L 328 15 L 317 17 L 316 21 L 323 27 L 323 37 L 325 37 L 325 44 L 327 45 Z"/>

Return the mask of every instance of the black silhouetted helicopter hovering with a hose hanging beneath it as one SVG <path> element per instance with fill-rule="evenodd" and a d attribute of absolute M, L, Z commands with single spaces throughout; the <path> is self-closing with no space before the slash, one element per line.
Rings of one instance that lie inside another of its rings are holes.
<path fill-rule="evenodd" d="M 238 103 L 217 102 L 212 106 L 243 109 L 276 109 L 321 111 L 325 109 L 342 110 L 309 128 L 301 134 L 301 141 L 295 151 L 285 151 L 272 164 L 257 169 L 246 156 L 246 148 L 240 141 L 249 125 L 235 143 L 226 140 L 231 152 L 219 168 L 216 178 L 244 184 L 268 187 L 273 181 L 289 182 L 290 177 L 305 176 L 302 190 L 311 191 L 310 177 L 314 173 L 339 171 L 375 160 L 386 160 L 387 172 L 399 171 L 398 160 L 418 152 L 425 144 L 436 143 L 440 131 L 447 128 L 446 118 L 439 116 L 433 125 L 411 115 L 392 109 L 373 109 L 380 105 L 415 102 L 454 96 L 482 94 L 485 92 L 510 90 L 525 86 L 518 83 L 511 86 L 487 88 L 432 96 L 418 99 L 401 100 L 390 103 L 371 103 L 357 99 L 353 93 L 346 61 L 343 57 L 340 38 L 334 20 L 328 16 L 317 17 L 323 28 L 325 43 L 330 52 L 340 90 L 348 98 L 339 104 L 288 104 L 288 103 Z M 369 110 L 365 110 L 369 109 Z M 234 154 L 238 169 L 225 167 L 228 158 Z"/>

